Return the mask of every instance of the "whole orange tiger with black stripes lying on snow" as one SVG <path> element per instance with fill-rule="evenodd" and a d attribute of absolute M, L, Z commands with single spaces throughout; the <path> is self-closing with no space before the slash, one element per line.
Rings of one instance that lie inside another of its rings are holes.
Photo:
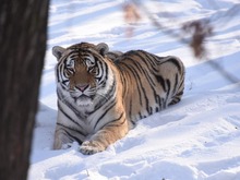
<path fill-rule="evenodd" d="M 144 50 L 115 53 L 105 43 L 55 46 L 52 53 L 58 60 L 53 149 L 76 142 L 84 155 L 103 152 L 140 119 L 183 95 L 185 70 L 178 57 Z"/>

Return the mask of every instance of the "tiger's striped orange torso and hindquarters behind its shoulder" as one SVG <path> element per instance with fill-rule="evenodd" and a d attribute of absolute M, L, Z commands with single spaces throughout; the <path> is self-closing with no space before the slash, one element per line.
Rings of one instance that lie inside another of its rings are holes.
<path fill-rule="evenodd" d="M 133 50 L 116 63 L 124 84 L 123 99 L 131 124 L 180 101 L 184 89 L 184 67 L 179 58 Z"/>

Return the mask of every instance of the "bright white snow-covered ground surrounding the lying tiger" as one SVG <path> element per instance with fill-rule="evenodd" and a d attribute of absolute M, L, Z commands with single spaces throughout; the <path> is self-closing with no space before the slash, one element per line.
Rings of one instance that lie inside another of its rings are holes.
<path fill-rule="evenodd" d="M 235 16 L 221 15 L 239 0 L 146 2 L 161 23 L 176 31 L 183 22 L 211 17 L 215 34 L 207 40 L 209 59 L 240 80 L 239 9 Z M 240 83 L 229 82 L 209 63 L 194 59 L 188 45 L 161 33 L 144 15 L 131 25 L 134 35 L 127 38 L 130 25 L 123 21 L 123 3 L 51 1 L 28 180 L 240 180 Z M 166 12 L 170 13 L 168 19 L 160 19 Z M 187 67 L 182 101 L 141 120 L 103 153 L 84 156 L 77 144 L 52 151 L 57 61 L 51 48 L 80 41 L 104 41 L 112 50 L 144 49 L 180 57 Z"/>

